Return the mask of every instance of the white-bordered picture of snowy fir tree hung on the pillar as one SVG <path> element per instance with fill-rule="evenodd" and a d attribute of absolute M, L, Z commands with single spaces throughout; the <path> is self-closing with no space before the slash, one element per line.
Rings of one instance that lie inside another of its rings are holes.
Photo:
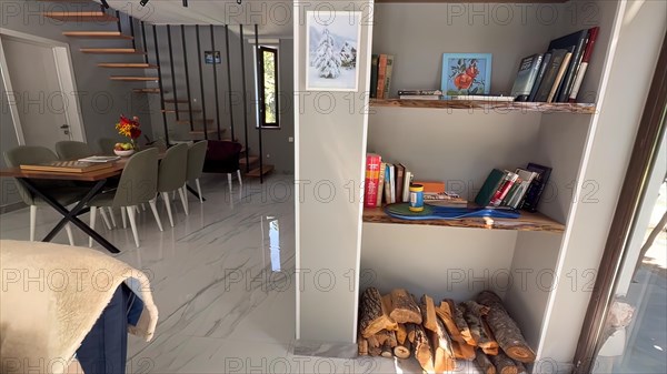
<path fill-rule="evenodd" d="M 358 91 L 360 11 L 306 12 L 306 90 Z"/>

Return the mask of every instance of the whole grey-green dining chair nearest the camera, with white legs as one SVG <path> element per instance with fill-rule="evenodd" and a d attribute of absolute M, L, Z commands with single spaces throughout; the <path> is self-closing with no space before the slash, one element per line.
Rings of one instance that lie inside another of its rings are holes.
<path fill-rule="evenodd" d="M 135 236 L 135 244 L 139 247 L 139 233 L 137 231 L 137 205 L 149 203 L 158 229 L 162 231 L 162 222 L 156 206 L 156 195 L 158 188 L 158 150 L 148 149 L 135 153 L 127 161 L 126 166 L 120 174 L 118 188 L 106 191 L 92 198 L 88 203 L 90 206 L 90 228 L 94 230 L 94 221 L 98 208 L 120 208 L 121 214 L 127 213 Z M 89 246 L 92 246 L 92 237 L 89 239 Z"/>

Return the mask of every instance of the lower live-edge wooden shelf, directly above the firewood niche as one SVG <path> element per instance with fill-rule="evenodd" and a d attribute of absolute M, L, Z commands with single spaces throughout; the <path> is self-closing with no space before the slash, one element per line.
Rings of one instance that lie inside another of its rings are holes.
<path fill-rule="evenodd" d="M 394 224 L 422 224 L 449 228 L 474 228 L 489 230 L 517 230 L 517 231 L 545 231 L 552 233 L 563 233 L 565 225 L 549 219 L 541 213 L 529 213 L 521 211 L 518 219 L 465 219 L 465 220 L 424 220 L 410 221 L 400 220 L 387 215 L 381 208 L 365 208 L 364 222 L 368 223 L 394 223 Z"/>

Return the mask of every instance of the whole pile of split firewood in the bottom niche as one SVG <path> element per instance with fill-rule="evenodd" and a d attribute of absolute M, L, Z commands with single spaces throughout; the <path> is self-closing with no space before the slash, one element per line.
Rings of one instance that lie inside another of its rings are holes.
<path fill-rule="evenodd" d="M 359 355 L 414 356 L 427 373 L 455 371 L 456 360 L 466 360 L 486 374 L 518 374 L 535 362 L 535 352 L 491 291 L 437 304 L 404 289 L 382 296 L 369 287 L 359 302 L 358 345 Z"/>

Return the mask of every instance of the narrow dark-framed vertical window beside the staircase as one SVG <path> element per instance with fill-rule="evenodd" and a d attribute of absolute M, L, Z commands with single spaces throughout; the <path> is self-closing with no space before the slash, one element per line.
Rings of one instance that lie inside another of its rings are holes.
<path fill-rule="evenodd" d="M 259 48 L 258 59 L 258 125 L 260 125 L 262 129 L 279 129 L 278 50 L 276 48 L 262 46 Z"/>

